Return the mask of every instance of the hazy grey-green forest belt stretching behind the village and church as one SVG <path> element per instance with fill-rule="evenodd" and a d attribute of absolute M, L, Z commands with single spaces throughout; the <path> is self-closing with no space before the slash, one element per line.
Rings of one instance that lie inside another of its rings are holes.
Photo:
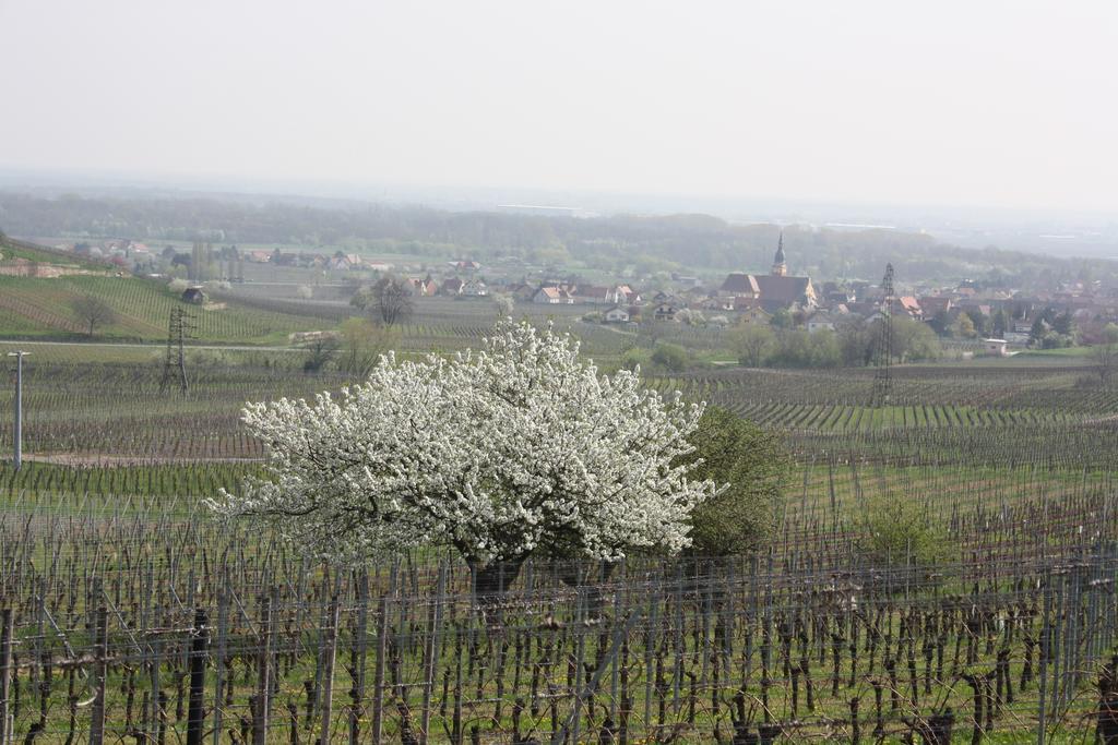
<path fill-rule="evenodd" d="M 0 192 L 0 226 L 23 236 L 214 240 L 239 243 L 364 246 L 423 256 L 517 256 L 551 266 L 572 260 L 639 274 L 708 269 L 765 270 L 779 228 L 731 225 L 702 214 L 540 217 L 452 212 L 420 207 L 217 199 L 42 199 Z M 1118 265 L 937 243 L 896 230 L 785 228 L 792 269 L 826 278 L 880 276 L 887 261 L 908 281 L 972 277 L 985 286 L 1051 285 L 1114 278 Z"/>

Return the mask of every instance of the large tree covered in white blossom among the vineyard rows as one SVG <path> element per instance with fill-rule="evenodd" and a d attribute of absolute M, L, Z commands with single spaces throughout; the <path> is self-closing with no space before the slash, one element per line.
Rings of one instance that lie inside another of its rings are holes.
<path fill-rule="evenodd" d="M 211 506 L 323 557 L 449 544 L 493 594 L 533 552 L 686 546 L 689 513 L 716 490 L 684 458 L 701 413 L 628 371 L 599 375 L 568 335 L 505 321 L 480 352 L 388 355 L 339 398 L 249 404 L 267 476 Z"/>

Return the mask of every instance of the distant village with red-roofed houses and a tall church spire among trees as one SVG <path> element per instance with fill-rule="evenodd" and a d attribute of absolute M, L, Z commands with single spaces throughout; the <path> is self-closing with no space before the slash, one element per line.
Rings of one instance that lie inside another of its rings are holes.
<path fill-rule="evenodd" d="M 417 299 L 504 296 L 517 303 L 580 305 L 587 306 L 588 321 L 604 324 L 764 324 L 816 333 L 836 331 L 844 323 L 872 322 L 888 312 L 926 323 L 941 337 L 985 345 L 991 354 L 1005 354 L 1011 345 L 1098 343 L 1107 325 L 1118 321 L 1118 288 L 1099 283 L 1077 281 L 1055 290 L 1038 290 L 991 288 L 966 280 L 954 287 L 908 285 L 909 289 L 898 288 L 888 296 L 880 281 L 817 284 L 809 276 L 789 271 L 783 235 L 767 274 L 732 271 L 721 281 L 672 274 L 655 280 L 646 277 L 608 284 L 549 277 L 546 267 L 524 267 L 513 257 L 485 267 L 473 259 L 415 266 L 370 260 L 353 252 L 243 251 L 206 242 L 196 242 L 189 252 L 174 247 L 157 250 L 129 240 L 58 248 L 112 261 L 138 275 L 182 277 L 192 283 L 196 302 L 203 297 L 205 283 L 253 281 L 257 269 L 264 267 L 292 270 L 293 277 L 299 276 L 297 270 L 309 277 L 329 274 L 331 281 L 354 288 L 394 274 L 407 278 Z"/>

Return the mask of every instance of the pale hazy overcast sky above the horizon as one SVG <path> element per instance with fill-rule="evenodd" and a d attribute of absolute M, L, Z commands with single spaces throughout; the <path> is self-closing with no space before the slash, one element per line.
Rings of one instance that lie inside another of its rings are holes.
<path fill-rule="evenodd" d="M 1118 2 L 0 0 L 0 166 L 1118 211 Z"/>

